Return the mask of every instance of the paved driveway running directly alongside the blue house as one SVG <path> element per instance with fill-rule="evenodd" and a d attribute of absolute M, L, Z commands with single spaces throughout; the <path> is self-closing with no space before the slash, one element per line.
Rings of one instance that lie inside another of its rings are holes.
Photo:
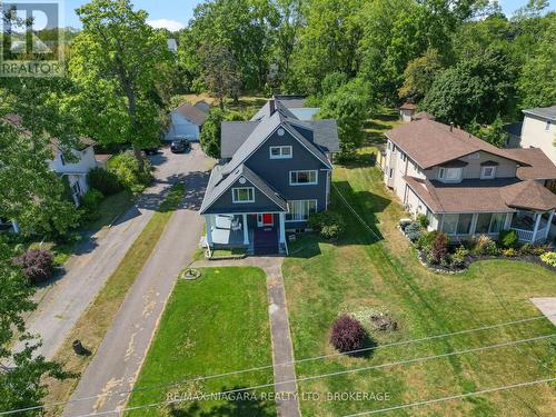
<path fill-rule="evenodd" d="M 209 159 L 199 150 L 182 167 L 186 197 L 130 288 L 126 299 L 83 373 L 72 399 L 133 387 L 158 320 L 178 272 L 190 261 L 202 230 L 197 212 L 208 182 Z M 67 405 L 64 416 L 79 416 L 121 407 L 128 396 L 106 396 Z"/>

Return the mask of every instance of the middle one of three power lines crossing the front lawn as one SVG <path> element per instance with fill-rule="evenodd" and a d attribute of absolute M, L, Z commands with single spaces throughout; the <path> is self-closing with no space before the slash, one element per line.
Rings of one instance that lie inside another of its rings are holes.
<path fill-rule="evenodd" d="M 179 404 L 179 403 L 183 403 L 183 401 L 195 401 L 198 399 L 218 398 L 221 396 L 227 396 L 227 395 L 237 394 L 237 393 L 245 393 L 245 391 L 249 391 L 249 390 L 254 390 L 254 389 L 276 387 L 279 385 L 286 385 L 286 384 L 292 384 L 292 383 L 304 383 L 304 381 L 308 381 L 308 380 L 335 377 L 335 376 L 339 376 L 339 375 L 353 374 L 353 373 L 358 373 L 358 371 L 363 371 L 363 370 L 381 369 L 381 368 L 387 368 L 387 367 L 393 367 L 393 366 L 398 366 L 398 365 L 415 364 L 415 363 L 427 361 L 427 360 L 431 360 L 431 359 L 446 358 L 446 357 L 450 357 L 450 356 L 455 356 L 455 355 L 464 355 L 464 354 L 485 351 L 485 350 L 489 350 L 489 349 L 496 349 L 496 348 L 513 346 L 513 345 L 517 345 L 517 344 L 525 344 L 528 341 L 548 339 L 548 338 L 552 338 L 555 336 L 556 336 L 556 334 L 555 335 L 537 336 L 537 337 L 533 337 L 533 338 L 528 338 L 528 339 L 506 341 L 503 344 L 484 346 L 484 347 L 465 349 L 465 350 L 457 350 L 457 351 L 451 351 L 451 353 L 441 354 L 441 355 L 426 356 L 426 357 L 421 357 L 421 358 L 414 358 L 414 359 L 400 360 L 400 361 L 388 363 L 388 364 L 366 366 L 366 367 L 361 367 L 361 368 L 339 370 L 339 371 L 329 373 L 329 374 L 314 375 L 314 376 L 308 376 L 308 377 L 302 377 L 302 378 L 285 380 L 285 381 L 280 381 L 280 383 L 261 384 L 261 385 L 257 385 L 257 386 L 252 386 L 252 387 L 237 388 L 237 389 L 230 389 L 230 390 L 219 391 L 219 393 L 210 393 L 208 395 L 193 396 L 193 397 L 186 398 L 186 399 L 178 398 L 178 399 L 159 401 L 159 403 L 143 404 L 140 406 L 127 407 L 127 408 L 122 408 L 122 409 L 112 409 L 112 410 L 100 411 L 100 413 L 82 414 L 82 415 L 79 415 L 76 417 L 102 416 L 102 415 L 115 414 L 115 413 L 132 411 L 132 410 L 142 409 L 142 408 L 152 408 L 152 407 L 159 407 L 159 406 L 163 406 L 163 405 Z"/>

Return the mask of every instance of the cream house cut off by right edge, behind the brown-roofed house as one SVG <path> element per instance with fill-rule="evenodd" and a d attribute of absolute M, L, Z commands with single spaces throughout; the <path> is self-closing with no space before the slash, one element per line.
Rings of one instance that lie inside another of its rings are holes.
<path fill-rule="evenodd" d="M 556 106 L 523 110 L 520 147 L 539 148 L 556 163 Z"/>

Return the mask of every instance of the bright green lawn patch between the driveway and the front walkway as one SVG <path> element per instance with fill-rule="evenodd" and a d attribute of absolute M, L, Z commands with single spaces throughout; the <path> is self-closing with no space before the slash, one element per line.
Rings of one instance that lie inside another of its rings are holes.
<path fill-rule="evenodd" d="M 183 383 L 272 363 L 266 277 L 258 268 L 203 268 L 200 279 L 179 280 L 135 385 L 129 406 L 272 383 L 272 369 Z M 272 388 L 264 389 L 272 393 Z M 260 394 L 260 390 L 259 390 Z M 259 396 L 260 399 L 260 396 Z M 272 400 L 200 400 L 142 409 L 129 415 L 274 416 Z"/>

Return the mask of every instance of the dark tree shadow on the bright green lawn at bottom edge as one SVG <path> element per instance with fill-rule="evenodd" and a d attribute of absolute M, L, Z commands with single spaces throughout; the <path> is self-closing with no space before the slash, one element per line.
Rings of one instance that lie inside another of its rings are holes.
<path fill-rule="evenodd" d="M 230 391 L 236 389 L 242 389 L 245 387 L 234 387 L 234 388 L 222 388 L 220 391 Z M 250 397 L 251 391 L 240 391 L 237 393 L 238 397 Z M 230 395 L 234 396 L 234 395 Z M 252 397 L 248 399 L 229 399 L 224 404 L 216 405 L 209 410 L 202 410 L 199 403 L 193 403 L 186 408 L 171 408 L 169 415 L 173 417 L 270 417 L 276 416 L 276 410 L 272 400 L 261 400 L 259 395 L 252 394 Z"/>

